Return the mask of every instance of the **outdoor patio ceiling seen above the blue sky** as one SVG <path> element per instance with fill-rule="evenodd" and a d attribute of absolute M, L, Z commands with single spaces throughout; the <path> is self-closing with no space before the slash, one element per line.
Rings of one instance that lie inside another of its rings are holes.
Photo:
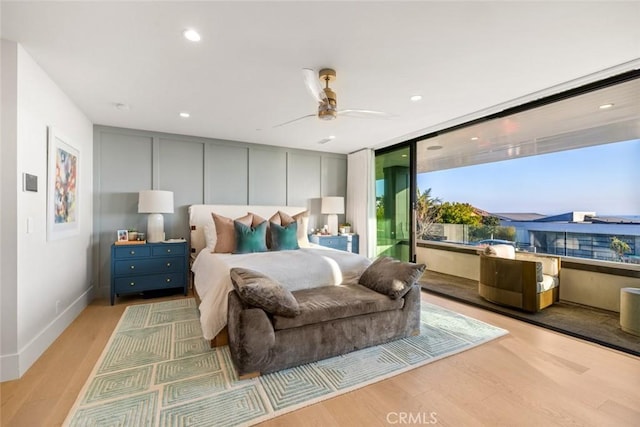
<path fill-rule="evenodd" d="M 600 108 L 606 104 L 611 108 Z M 640 78 L 420 140 L 417 171 L 632 139 L 640 139 Z"/>

